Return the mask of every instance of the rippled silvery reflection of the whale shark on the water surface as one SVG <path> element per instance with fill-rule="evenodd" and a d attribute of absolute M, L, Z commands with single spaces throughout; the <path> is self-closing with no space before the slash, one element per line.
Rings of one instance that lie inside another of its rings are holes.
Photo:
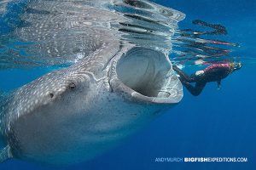
<path fill-rule="evenodd" d="M 184 14 L 147 1 L 3 2 L 1 68 L 71 65 L 116 38 L 169 54 Z M 19 13 L 16 8 L 20 9 Z"/>

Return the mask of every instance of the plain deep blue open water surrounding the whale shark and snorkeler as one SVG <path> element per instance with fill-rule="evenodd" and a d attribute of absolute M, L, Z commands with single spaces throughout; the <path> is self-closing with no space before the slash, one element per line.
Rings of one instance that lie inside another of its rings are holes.
<path fill-rule="evenodd" d="M 201 19 L 227 27 L 228 40 L 239 42 L 236 55 L 244 60 L 240 71 L 207 84 L 199 97 L 184 89 L 179 105 L 144 127 L 124 144 L 83 164 L 64 169 L 256 169 L 256 1 L 178 0 L 157 1 L 187 14 L 179 26 Z M 254 62 L 254 63 L 253 63 Z M 49 70 L 0 71 L 1 88 L 10 90 Z M 156 157 L 247 157 L 247 162 L 155 162 Z M 1 170 L 53 169 L 10 160 Z"/>

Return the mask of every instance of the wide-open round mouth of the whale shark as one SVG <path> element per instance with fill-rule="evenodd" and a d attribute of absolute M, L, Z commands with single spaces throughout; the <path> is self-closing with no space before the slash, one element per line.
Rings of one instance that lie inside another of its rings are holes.
<path fill-rule="evenodd" d="M 116 64 L 116 75 L 112 85 L 132 98 L 177 103 L 183 97 L 182 85 L 173 74 L 170 60 L 149 48 L 132 48 L 123 55 Z"/>

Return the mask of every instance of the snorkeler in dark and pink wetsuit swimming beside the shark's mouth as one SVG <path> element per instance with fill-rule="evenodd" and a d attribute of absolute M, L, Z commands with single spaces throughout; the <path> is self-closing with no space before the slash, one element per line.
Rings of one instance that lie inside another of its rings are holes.
<path fill-rule="evenodd" d="M 217 82 L 218 88 L 220 88 L 221 80 L 229 76 L 233 71 L 239 70 L 241 63 L 225 62 L 212 64 L 202 71 L 196 71 L 190 77 L 177 68 L 176 65 L 173 65 L 172 68 L 177 72 L 180 81 L 189 90 L 190 94 L 198 96 L 201 94 L 203 88 L 205 88 L 207 82 Z M 190 84 L 191 82 L 195 82 L 195 87 Z"/>

